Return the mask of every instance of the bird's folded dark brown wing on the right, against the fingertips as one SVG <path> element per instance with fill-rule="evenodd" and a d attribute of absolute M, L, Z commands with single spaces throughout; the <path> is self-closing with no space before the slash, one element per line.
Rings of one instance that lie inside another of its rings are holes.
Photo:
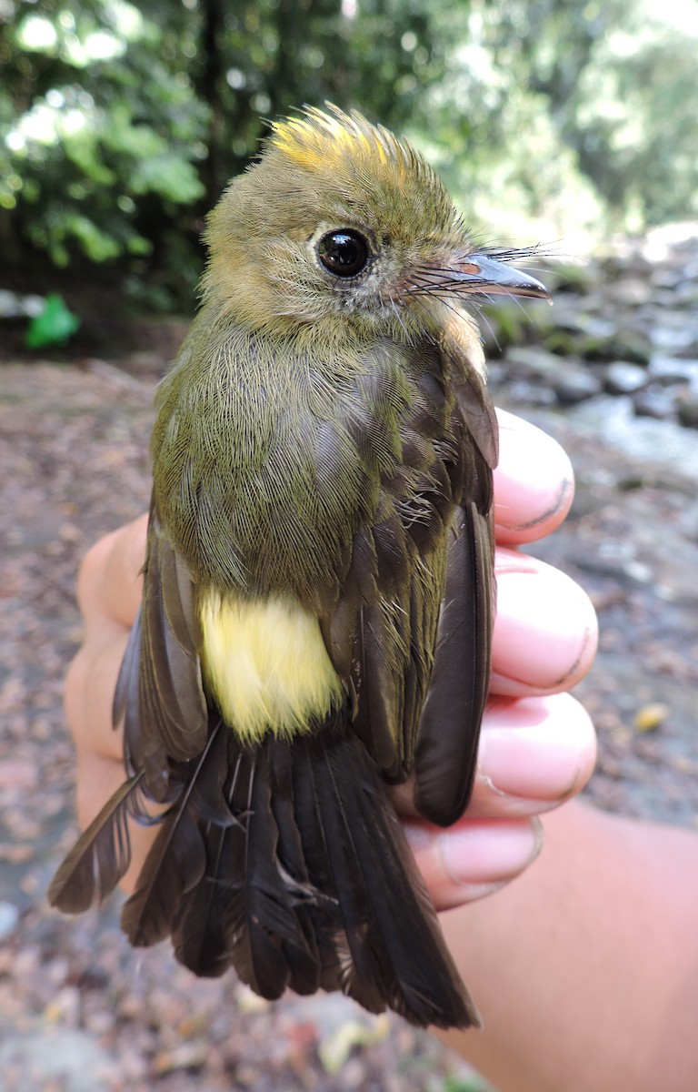
<path fill-rule="evenodd" d="M 461 384 L 455 372 L 445 394 L 434 381 L 442 366 L 437 356 L 425 372 L 402 425 L 402 464 L 354 535 L 322 625 L 369 751 L 396 781 L 417 759 L 421 808 L 453 821 L 470 793 L 490 672 L 496 422 L 479 376 Z"/>

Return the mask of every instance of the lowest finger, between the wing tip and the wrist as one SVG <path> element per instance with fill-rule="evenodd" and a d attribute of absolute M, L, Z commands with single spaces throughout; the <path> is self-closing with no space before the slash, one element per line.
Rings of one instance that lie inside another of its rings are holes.
<path fill-rule="evenodd" d="M 448 830 L 406 823 L 405 830 L 436 910 L 492 894 L 535 859 L 538 819 L 462 819 Z"/>

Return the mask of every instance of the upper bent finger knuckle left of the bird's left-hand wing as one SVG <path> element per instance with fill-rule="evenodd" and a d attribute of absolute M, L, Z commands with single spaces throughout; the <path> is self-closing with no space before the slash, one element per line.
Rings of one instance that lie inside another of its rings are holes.
<path fill-rule="evenodd" d="M 147 515 L 100 538 L 85 555 L 77 602 L 87 627 L 109 619 L 130 628 L 141 603 Z"/>

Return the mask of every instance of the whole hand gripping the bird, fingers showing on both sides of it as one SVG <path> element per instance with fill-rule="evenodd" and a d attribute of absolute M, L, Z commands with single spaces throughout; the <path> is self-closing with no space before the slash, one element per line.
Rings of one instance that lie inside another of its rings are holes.
<path fill-rule="evenodd" d="M 592 726 L 564 693 L 595 651 L 593 608 L 569 578 L 516 547 L 550 534 L 573 496 L 559 446 L 510 414 L 500 414 L 495 473 L 497 618 L 491 695 L 478 774 L 466 816 L 448 830 L 414 816 L 396 791 L 406 829 L 437 909 L 480 898 L 518 875 L 540 848 L 535 817 L 579 792 L 595 756 Z M 129 630 L 141 601 L 147 519 L 101 538 L 79 579 L 85 642 L 68 673 L 65 710 L 77 752 L 77 811 L 85 827 L 124 778 L 121 733 L 111 701 Z M 133 890 L 153 828 L 133 824 Z"/>

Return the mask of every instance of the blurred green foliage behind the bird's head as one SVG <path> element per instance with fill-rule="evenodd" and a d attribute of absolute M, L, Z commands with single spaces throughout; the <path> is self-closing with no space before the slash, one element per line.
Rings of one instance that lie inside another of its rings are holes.
<path fill-rule="evenodd" d="M 188 298 L 261 118 L 326 98 L 406 132 L 498 240 L 696 216 L 696 0 L 0 0 L 5 271 Z"/>

